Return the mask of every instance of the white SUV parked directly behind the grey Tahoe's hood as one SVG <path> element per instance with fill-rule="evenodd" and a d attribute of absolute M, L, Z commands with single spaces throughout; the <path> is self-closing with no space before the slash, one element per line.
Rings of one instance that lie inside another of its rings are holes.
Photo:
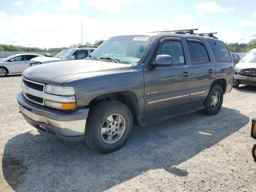
<path fill-rule="evenodd" d="M 51 62 L 59 62 L 66 60 L 76 60 L 76 59 L 85 59 L 90 55 L 97 46 L 70 46 L 61 52 L 59 52 L 54 57 L 36 57 L 30 60 L 30 66 L 35 66 L 38 64 L 46 64 Z"/>

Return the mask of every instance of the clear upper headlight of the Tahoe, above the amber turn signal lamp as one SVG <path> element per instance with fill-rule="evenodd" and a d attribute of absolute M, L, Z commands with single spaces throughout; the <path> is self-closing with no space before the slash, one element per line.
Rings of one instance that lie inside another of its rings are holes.
<path fill-rule="evenodd" d="M 50 94 L 54 94 L 54 95 L 61 95 L 61 96 L 75 95 L 75 90 L 72 87 L 46 85 L 44 90 L 46 93 L 50 93 Z"/>

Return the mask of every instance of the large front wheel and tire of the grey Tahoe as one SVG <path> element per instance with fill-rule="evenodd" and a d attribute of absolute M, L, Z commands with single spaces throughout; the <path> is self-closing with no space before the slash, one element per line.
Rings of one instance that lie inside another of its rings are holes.
<path fill-rule="evenodd" d="M 132 113 L 126 105 L 118 101 L 102 101 L 90 109 L 85 141 L 100 153 L 114 152 L 124 146 L 132 128 Z"/>

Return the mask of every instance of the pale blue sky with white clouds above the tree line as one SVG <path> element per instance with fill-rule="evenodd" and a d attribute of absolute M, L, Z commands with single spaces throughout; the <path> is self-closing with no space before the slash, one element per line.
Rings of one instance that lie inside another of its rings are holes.
<path fill-rule="evenodd" d="M 199 28 L 224 42 L 256 38 L 256 0 L 0 0 L 0 44 L 70 46 L 123 34 Z"/>

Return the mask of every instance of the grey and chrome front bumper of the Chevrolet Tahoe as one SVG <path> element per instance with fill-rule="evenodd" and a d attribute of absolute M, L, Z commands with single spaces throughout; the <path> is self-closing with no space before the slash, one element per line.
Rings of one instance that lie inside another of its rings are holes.
<path fill-rule="evenodd" d="M 69 141 L 84 140 L 89 108 L 60 111 L 28 101 L 22 91 L 17 95 L 20 112 L 37 129 Z"/>

